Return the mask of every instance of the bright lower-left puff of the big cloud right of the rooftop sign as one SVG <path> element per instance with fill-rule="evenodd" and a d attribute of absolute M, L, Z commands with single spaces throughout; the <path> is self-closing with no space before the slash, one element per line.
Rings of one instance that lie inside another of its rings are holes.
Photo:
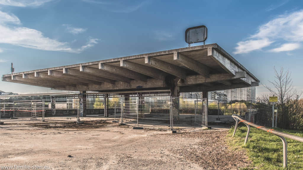
<path fill-rule="evenodd" d="M 261 50 L 263 47 L 269 46 L 273 41 L 269 41 L 268 38 L 259 40 L 240 41 L 237 43 L 238 47 L 235 47 L 234 54 L 249 53 L 254 50 Z"/>

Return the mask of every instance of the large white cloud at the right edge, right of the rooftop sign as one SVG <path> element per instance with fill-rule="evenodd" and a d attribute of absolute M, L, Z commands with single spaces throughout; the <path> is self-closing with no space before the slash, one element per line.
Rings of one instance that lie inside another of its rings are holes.
<path fill-rule="evenodd" d="M 270 52 L 291 51 L 298 49 L 298 42 L 303 41 L 303 10 L 280 15 L 268 23 L 261 25 L 256 34 L 251 35 L 247 41 L 240 41 L 235 47 L 234 54 L 249 53 L 268 47 L 275 41 L 286 41 L 279 48 Z M 295 45 L 295 46 L 291 46 Z"/>

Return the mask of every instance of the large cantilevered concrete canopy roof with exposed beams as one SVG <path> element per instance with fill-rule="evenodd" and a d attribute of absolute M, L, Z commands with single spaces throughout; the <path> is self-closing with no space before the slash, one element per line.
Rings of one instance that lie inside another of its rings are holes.
<path fill-rule="evenodd" d="M 2 81 L 106 93 L 215 91 L 260 82 L 217 44 L 6 74 Z"/>

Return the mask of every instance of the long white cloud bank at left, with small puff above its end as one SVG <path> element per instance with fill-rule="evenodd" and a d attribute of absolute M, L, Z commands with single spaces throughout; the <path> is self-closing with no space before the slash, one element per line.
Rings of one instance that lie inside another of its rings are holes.
<path fill-rule="evenodd" d="M 45 37 L 41 31 L 25 27 L 11 27 L 7 25 L 8 23 L 20 24 L 20 20 L 13 14 L 0 11 L 0 43 L 2 44 L 12 44 L 46 51 L 80 53 L 98 43 L 98 39 L 90 38 L 85 45 L 75 49 L 70 47 L 68 42 L 60 42 L 58 40 Z M 67 29 L 73 34 L 79 34 L 86 30 L 69 26 Z"/>

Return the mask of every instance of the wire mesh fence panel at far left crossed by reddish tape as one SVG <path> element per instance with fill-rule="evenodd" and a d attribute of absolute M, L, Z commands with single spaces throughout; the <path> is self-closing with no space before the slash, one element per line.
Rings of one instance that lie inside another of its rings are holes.
<path fill-rule="evenodd" d="M 14 101 L 14 117 L 44 120 L 44 106 L 44 100 Z"/>

